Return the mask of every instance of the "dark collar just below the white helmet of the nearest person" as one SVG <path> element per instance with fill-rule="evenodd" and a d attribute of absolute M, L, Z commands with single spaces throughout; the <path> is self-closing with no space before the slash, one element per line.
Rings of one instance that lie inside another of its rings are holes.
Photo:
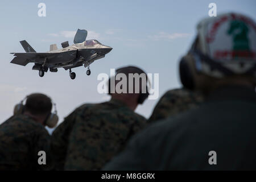
<path fill-rule="evenodd" d="M 206 101 L 250 100 L 256 102 L 255 90 L 245 86 L 224 86 L 214 90 Z"/>

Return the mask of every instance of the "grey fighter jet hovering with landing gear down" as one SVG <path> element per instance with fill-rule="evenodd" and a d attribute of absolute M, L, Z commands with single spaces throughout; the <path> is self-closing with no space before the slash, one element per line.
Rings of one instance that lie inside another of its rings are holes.
<path fill-rule="evenodd" d="M 112 50 L 112 47 L 105 46 L 98 40 L 86 40 L 87 31 L 78 29 L 74 38 L 74 44 L 69 46 L 68 41 L 61 43 L 62 48 L 57 49 L 56 44 L 50 46 L 48 52 L 36 52 L 26 40 L 20 41 L 26 51 L 14 54 L 11 63 L 26 66 L 28 63 L 34 63 L 33 70 L 39 71 L 39 76 L 43 77 L 48 69 L 50 72 L 57 72 L 58 68 L 69 69 L 71 79 L 76 78 L 76 73 L 71 68 L 84 65 L 88 68 L 86 75 L 90 75 L 89 65 L 97 59 L 105 57 Z"/>

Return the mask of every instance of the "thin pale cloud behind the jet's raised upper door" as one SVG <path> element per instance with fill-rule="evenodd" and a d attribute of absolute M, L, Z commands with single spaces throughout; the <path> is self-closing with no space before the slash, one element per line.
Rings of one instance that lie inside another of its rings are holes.
<path fill-rule="evenodd" d="M 58 34 L 55 33 L 51 33 L 48 34 L 49 36 L 54 36 L 54 37 L 58 37 L 58 36 L 62 36 L 64 38 L 74 38 L 76 35 L 76 31 L 60 31 Z M 100 38 L 100 34 L 95 32 L 95 31 L 88 31 L 88 35 L 86 39 L 98 39 Z"/>

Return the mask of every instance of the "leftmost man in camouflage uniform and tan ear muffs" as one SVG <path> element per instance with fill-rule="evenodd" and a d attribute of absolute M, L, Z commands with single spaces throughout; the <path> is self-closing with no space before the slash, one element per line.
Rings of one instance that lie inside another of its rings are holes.
<path fill-rule="evenodd" d="M 50 136 L 44 127 L 52 119 L 56 123 L 56 115 L 51 114 L 51 99 L 40 93 L 25 99 L 26 104 L 17 104 L 14 115 L 0 125 L 1 170 L 39 170 L 51 166 Z M 45 159 L 39 159 L 40 156 Z"/>

